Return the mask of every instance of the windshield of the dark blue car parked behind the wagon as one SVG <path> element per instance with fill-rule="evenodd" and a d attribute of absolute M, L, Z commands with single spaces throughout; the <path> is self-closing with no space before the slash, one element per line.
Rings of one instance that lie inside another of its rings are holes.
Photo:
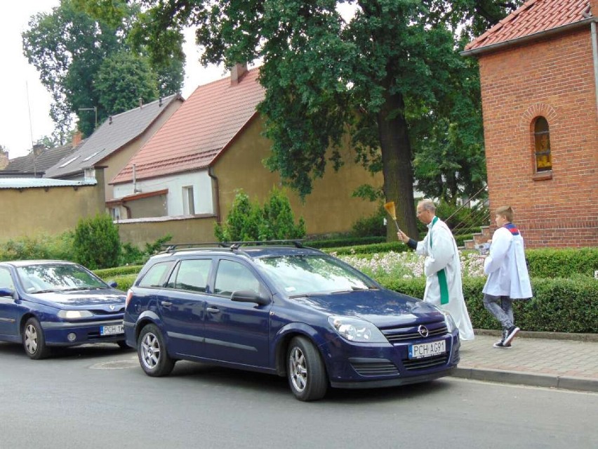
<path fill-rule="evenodd" d="M 65 292 L 107 288 L 100 278 L 77 265 L 40 263 L 17 268 L 19 278 L 28 293 Z"/>

